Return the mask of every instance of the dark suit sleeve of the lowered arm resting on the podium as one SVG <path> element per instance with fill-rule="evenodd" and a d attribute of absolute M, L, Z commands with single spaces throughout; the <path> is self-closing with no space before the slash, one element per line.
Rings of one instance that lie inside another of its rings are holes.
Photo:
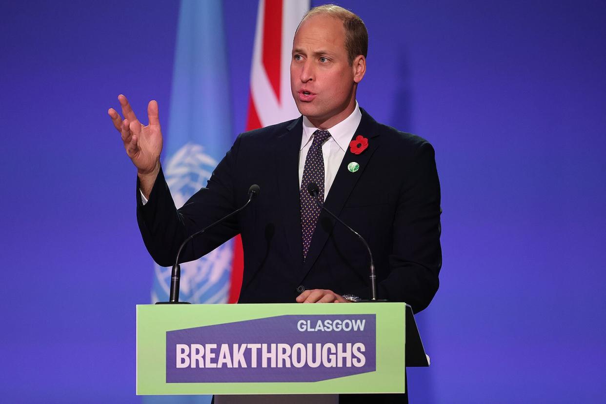
<path fill-rule="evenodd" d="M 442 267 L 440 184 L 428 142 L 416 149 L 407 171 L 393 220 L 390 272 L 378 283 L 377 294 L 379 299 L 406 302 L 417 313 L 438 291 Z"/>

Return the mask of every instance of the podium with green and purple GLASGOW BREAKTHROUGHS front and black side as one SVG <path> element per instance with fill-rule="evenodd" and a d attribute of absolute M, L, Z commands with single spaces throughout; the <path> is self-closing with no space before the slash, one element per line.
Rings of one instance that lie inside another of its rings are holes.
<path fill-rule="evenodd" d="M 136 393 L 403 393 L 429 366 L 405 303 L 138 305 Z"/>

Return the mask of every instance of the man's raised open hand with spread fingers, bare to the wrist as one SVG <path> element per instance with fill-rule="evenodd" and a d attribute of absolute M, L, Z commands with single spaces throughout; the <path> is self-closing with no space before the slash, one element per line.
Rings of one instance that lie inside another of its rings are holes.
<path fill-rule="evenodd" d="M 130 107 L 128 99 L 124 95 L 120 94 L 118 101 L 122 107 L 124 120 L 113 108 L 110 108 L 107 114 L 112 118 L 114 127 L 122 136 L 126 154 L 137 168 L 141 191 L 148 197 L 160 170 L 160 153 L 162 152 L 158 102 L 152 100 L 147 105 L 149 123 L 144 126 L 135 116 L 133 108 Z"/>

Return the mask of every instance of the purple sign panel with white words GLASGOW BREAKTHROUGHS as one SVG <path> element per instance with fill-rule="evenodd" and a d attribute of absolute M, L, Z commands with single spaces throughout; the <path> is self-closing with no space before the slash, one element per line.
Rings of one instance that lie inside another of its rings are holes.
<path fill-rule="evenodd" d="M 288 315 L 166 333 L 166 382 L 317 382 L 376 370 L 375 314 Z"/>

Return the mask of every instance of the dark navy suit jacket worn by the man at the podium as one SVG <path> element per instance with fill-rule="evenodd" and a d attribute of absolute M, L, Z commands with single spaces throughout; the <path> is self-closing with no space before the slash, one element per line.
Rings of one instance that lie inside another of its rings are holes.
<path fill-rule="evenodd" d="M 433 147 L 421 137 L 378 124 L 362 110 L 353 137 L 361 154 L 345 153 L 325 207 L 360 233 L 375 257 L 378 297 L 423 310 L 438 290 L 440 189 Z M 206 188 L 176 209 L 162 172 L 147 204 L 137 194 L 145 246 L 159 265 L 173 264 L 188 235 L 259 196 L 233 219 L 188 243 L 181 261 L 197 259 L 236 234 L 244 247 L 239 302 L 295 302 L 302 288 L 370 297 L 369 259 L 359 239 L 321 213 L 303 260 L 299 204 L 302 118 L 238 136 Z M 350 162 L 359 170 L 351 173 Z M 138 191 L 137 191 L 138 192 Z"/>

